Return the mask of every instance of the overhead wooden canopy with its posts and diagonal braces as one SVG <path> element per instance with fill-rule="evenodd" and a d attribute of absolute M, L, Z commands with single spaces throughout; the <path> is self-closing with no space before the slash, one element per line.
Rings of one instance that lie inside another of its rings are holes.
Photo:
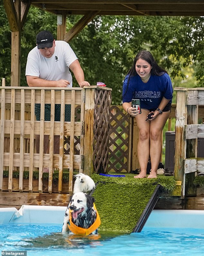
<path fill-rule="evenodd" d="M 204 0 L 4 0 L 11 28 L 11 86 L 20 86 L 21 29 L 30 6 L 58 15 L 57 39 L 69 42 L 99 15 L 204 16 Z M 66 32 L 68 15 L 83 17 Z"/>

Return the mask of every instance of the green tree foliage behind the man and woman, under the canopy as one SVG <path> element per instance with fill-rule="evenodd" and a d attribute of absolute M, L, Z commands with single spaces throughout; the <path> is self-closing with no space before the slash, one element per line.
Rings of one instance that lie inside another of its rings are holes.
<path fill-rule="evenodd" d="M 5 77 L 9 85 L 11 31 L 2 0 L 0 3 L 0 78 Z M 67 31 L 81 17 L 67 16 Z M 153 53 L 159 65 L 168 70 L 175 86 L 203 86 L 203 24 L 204 17 L 96 16 L 70 41 L 70 46 L 79 58 L 85 79 L 92 85 L 105 82 L 113 89 L 112 104 L 120 105 L 123 80 L 136 53 L 142 49 Z M 21 86 L 27 85 L 27 55 L 41 30 L 50 30 L 56 38 L 57 16 L 31 6 L 22 29 Z M 73 84 L 78 86 L 75 79 Z"/>

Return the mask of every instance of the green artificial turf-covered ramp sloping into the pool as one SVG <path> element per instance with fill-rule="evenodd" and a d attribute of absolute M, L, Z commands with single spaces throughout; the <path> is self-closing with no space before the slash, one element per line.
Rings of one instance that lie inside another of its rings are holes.
<path fill-rule="evenodd" d="M 173 176 L 161 175 L 155 179 L 134 179 L 133 176 L 132 174 L 125 174 L 125 177 L 106 177 L 98 174 L 91 176 L 97 183 L 93 197 L 101 219 L 99 231 L 134 232 L 135 225 L 156 187 L 161 185 L 166 191 L 173 191 L 176 186 Z"/>

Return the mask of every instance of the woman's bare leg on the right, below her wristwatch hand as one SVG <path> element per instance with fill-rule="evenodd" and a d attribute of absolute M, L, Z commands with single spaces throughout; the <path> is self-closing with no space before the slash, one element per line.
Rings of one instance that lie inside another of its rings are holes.
<path fill-rule="evenodd" d="M 151 173 L 148 178 L 157 177 L 157 168 L 162 155 L 162 130 L 169 117 L 170 111 L 163 112 L 154 120 L 150 121 L 150 158 L 151 158 Z"/>

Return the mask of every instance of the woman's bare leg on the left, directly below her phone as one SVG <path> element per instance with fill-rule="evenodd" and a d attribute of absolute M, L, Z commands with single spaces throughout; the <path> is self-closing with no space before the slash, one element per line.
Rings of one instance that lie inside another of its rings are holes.
<path fill-rule="evenodd" d="M 139 141 L 137 145 L 137 155 L 140 164 L 140 174 L 134 176 L 134 178 L 146 178 L 147 175 L 147 162 L 150 155 L 149 144 L 149 130 L 150 122 L 146 122 L 145 119 L 149 110 L 142 109 L 142 113 L 136 116 L 137 126 L 139 128 Z"/>

